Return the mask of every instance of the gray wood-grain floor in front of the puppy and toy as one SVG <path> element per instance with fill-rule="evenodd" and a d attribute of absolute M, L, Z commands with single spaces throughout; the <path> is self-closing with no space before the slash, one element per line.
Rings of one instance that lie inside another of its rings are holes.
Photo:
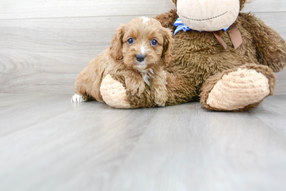
<path fill-rule="evenodd" d="M 286 96 L 243 113 L 0 94 L 0 190 L 285 190 Z"/>

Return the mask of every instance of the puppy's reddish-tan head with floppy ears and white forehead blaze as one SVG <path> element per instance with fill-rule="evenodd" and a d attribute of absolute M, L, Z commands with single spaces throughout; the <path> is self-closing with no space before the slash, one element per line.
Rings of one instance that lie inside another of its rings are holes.
<path fill-rule="evenodd" d="M 116 31 L 110 47 L 114 59 L 139 71 L 170 61 L 172 33 L 157 20 L 139 17 Z"/>

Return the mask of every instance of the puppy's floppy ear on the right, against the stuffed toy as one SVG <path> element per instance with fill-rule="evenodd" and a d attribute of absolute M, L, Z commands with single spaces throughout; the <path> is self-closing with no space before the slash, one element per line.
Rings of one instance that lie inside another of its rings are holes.
<path fill-rule="evenodd" d="M 171 29 L 163 28 L 163 53 L 162 58 L 164 59 L 165 64 L 167 65 L 172 59 L 172 50 L 173 50 L 173 35 Z"/>

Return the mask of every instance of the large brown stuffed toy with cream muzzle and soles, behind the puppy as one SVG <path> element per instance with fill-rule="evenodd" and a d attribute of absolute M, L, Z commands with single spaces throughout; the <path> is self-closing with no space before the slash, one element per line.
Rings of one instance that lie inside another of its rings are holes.
<path fill-rule="evenodd" d="M 173 58 L 164 69 L 166 106 L 200 101 L 207 109 L 245 111 L 273 95 L 275 75 L 286 65 L 282 37 L 250 13 L 254 0 L 172 0 L 177 9 L 154 17 L 174 34 Z M 140 95 L 122 76 L 107 75 L 103 100 L 115 108 L 158 106 L 150 87 Z"/>

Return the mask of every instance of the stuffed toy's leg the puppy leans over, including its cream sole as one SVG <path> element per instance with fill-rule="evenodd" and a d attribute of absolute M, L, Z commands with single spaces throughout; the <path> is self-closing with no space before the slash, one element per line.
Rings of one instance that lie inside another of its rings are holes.
<path fill-rule="evenodd" d="M 180 75 L 165 72 L 167 80 L 168 99 L 167 105 L 186 103 L 198 100 L 195 85 Z M 101 83 L 100 92 L 103 100 L 115 108 L 150 108 L 158 106 L 152 99 L 150 86 L 145 85 L 144 92 L 140 95 L 132 95 L 126 91 L 124 78 L 120 75 L 107 75 Z"/>

